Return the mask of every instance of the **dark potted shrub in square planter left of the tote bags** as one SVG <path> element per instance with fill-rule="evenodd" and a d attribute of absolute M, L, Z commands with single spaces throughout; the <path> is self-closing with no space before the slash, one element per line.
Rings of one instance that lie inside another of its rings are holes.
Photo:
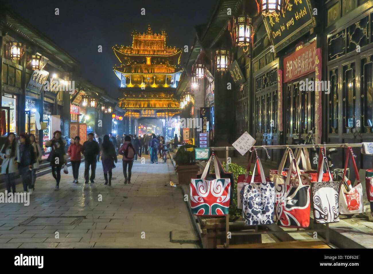
<path fill-rule="evenodd" d="M 190 180 L 197 176 L 199 166 L 195 163 L 194 150 L 187 151 L 188 148 L 195 148 L 195 145 L 186 144 L 179 147 L 175 155 L 176 172 L 179 177 L 179 184 L 189 185 Z"/>

